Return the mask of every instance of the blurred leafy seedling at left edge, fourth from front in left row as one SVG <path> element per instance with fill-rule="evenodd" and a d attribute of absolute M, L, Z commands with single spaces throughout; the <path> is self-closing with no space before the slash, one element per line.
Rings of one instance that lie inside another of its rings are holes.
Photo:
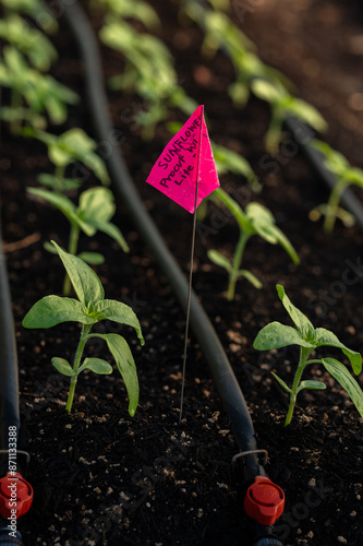
<path fill-rule="evenodd" d="M 4 46 L 0 62 L 0 84 L 11 87 L 11 105 L 1 108 L 1 118 L 11 122 L 14 133 L 21 132 L 25 121 L 32 127 L 46 127 L 47 112 L 53 123 L 66 118 L 66 105 L 75 104 L 78 96 L 49 74 L 31 68 L 25 58 L 12 46 Z"/>

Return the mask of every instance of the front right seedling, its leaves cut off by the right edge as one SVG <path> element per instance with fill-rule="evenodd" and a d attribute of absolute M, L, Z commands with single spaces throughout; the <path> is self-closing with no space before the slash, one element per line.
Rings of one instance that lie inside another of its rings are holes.
<path fill-rule="evenodd" d="M 264 327 L 257 334 L 253 346 L 257 351 L 270 351 L 274 348 L 288 347 L 289 345 L 300 346 L 300 359 L 293 379 L 292 387 L 271 372 L 280 387 L 290 395 L 290 406 L 286 416 L 285 426 L 291 423 L 292 414 L 297 403 L 297 396 L 303 389 L 324 390 L 326 384 L 323 381 L 305 380 L 301 377 L 310 364 L 323 364 L 324 368 L 341 384 L 351 397 L 353 404 L 363 417 L 363 392 L 358 382 L 352 378 L 348 368 L 336 358 L 312 358 L 310 355 L 317 347 L 337 347 L 349 358 L 352 369 L 358 376 L 362 371 L 362 357 L 355 351 L 346 347 L 338 337 L 324 328 L 314 328 L 311 321 L 297 307 L 294 307 L 285 294 L 283 286 L 277 285 L 277 293 L 283 307 L 291 317 L 295 328 L 271 322 Z"/>

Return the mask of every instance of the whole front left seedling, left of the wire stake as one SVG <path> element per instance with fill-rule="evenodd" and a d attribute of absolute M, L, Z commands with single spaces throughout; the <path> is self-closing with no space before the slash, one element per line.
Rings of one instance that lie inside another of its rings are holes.
<path fill-rule="evenodd" d="M 53 246 L 63 262 L 78 299 L 46 296 L 37 301 L 23 319 L 23 327 L 31 329 L 52 328 L 61 322 L 80 322 L 81 337 L 73 366 L 65 358 L 53 357 L 52 366 L 63 376 L 71 378 L 66 412 L 72 410 L 74 390 L 78 376 L 84 370 L 95 373 L 112 373 L 112 366 L 101 358 L 86 357 L 82 361 L 86 343 L 92 339 L 105 340 L 121 373 L 128 395 L 129 413 L 135 414 L 138 403 L 138 380 L 134 358 L 128 342 L 120 334 L 90 333 L 101 320 L 110 320 L 134 328 L 142 345 L 144 339 L 140 322 L 131 307 L 113 299 L 105 299 L 105 292 L 96 273 L 80 258 L 64 252 L 55 241 Z"/>

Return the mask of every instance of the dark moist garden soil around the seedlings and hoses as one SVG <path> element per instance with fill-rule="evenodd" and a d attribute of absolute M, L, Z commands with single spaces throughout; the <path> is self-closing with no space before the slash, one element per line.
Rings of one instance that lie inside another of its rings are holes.
<path fill-rule="evenodd" d="M 268 322 L 290 323 L 275 288 L 280 283 L 315 327 L 332 330 L 342 343 L 362 353 L 363 236 L 356 227 L 347 228 L 340 223 L 334 235 L 327 236 L 319 223 L 308 219 L 310 211 L 326 202 L 327 190 L 289 136 L 277 157 L 266 156 L 266 105 L 252 98 L 245 109 L 234 109 L 226 93 L 233 78 L 226 57 L 218 54 L 214 59 L 203 58 L 202 34 L 195 26 L 178 21 L 178 5 L 153 4 L 162 20 L 162 37 L 176 56 L 180 81 L 191 96 L 205 105 L 210 138 L 245 155 L 261 177 L 263 190 L 254 195 L 243 180 L 231 175 L 221 178 L 222 186 L 232 191 L 242 187 L 241 199 L 255 199 L 268 206 L 301 258 L 301 264 L 295 266 L 282 249 L 252 239 L 244 266 L 263 281 L 264 287 L 257 290 L 241 281 L 235 299 L 227 302 L 226 275 L 208 261 L 207 250 L 216 248 L 231 256 L 237 226 L 213 206 L 198 225 L 194 289 L 242 387 L 258 447 L 268 451 L 266 471 L 286 491 L 286 511 L 276 524 L 277 535 L 286 545 L 363 545 L 362 419 L 340 387 L 317 367 L 311 368 L 310 377 L 323 379 L 327 390 L 323 394 L 301 393 L 292 423 L 285 428 L 287 397 L 270 371 L 291 382 L 298 349 L 259 354 L 252 347 L 255 335 Z M 335 147 L 342 144 L 340 150 L 363 167 L 362 111 L 352 110 L 348 100 L 351 94 L 362 92 L 355 75 L 360 60 L 356 52 L 344 50 L 348 43 L 358 44 L 356 37 L 363 32 L 355 20 L 354 4 L 347 2 L 342 7 L 318 0 L 294 2 L 293 7 L 290 2 L 280 4 L 274 9 L 274 3 L 265 7 L 262 2 L 246 13 L 243 31 L 256 40 L 266 62 L 293 80 L 297 94 L 324 109 L 330 126 L 328 142 Z M 92 19 L 97 29 L 99 19 L 95 14 Z M 60 21 L 60 26 L 55 38 L 60 60 L 53 74 L 84 96 L 83 67 L 75 40 L 65 21 Z M 299 57 L 292 58 L 297 44 Z M 332 45 L 338 51 L 331 49 Z M 116 54 L 105 47 L 101 52 L 106 75 L 122 69 Z M 302 67 L 310 70 L 311 76 Z M 351 87 L 347 91 L 342 83 L 348 81 Z M 339 108 L 325 105 L 326 90 Z M 112 122 L 125 135 L 122 150 L 130 171 L 186 275 L 192 217 L 145 183 L 169 136 L 160 129 L 153 141 L 144 142 L 131 118 L 137 97 L 112 93 L 109 99 Z M 356 100 L 352 104 L 356 107 Z M 71 108 L 68 124 L 57 130 L 82 126 L 92 134 L 87 108 L 85 100 Z M 183 121 L 180 114 L 176 116 Z M 354 128 L 349 119 L 356 121 Z M 36 185 L 38 173 L 49 169 L 41 144 L 13 138 L 2 127 L 0 166 L 22 430 L 31 453 L 27 478 L 35 491 L 31 511 L 20 521 L 25 544 L 249 544 L 246 518 L 231 468 L 238 448 L 193 333 L 183 420 L 179 425 L 184 316 L 128 210 L 119 202 L 114 222 L 130 244 L 129 254 L 101 235 L 93 240 L 83 236 L 80 250 L 104 252 L 106 262 L 97 266 L 97 273 L 106 297 L 131 305 L 140 318 L 144 347 L 138 346 L 132 330 L 122 329 L 138 370 L 140 406 L 131 418 L 117 372 L 105 377 L 84 372 L 76 387 L 73 412 L 66 415 L 68 379 L 56 373 L 50 359 L 72 359 L 78 325 L 65 323 L 49 331 L 26 331 L 21 321 L 41 296 L 60 294 L 62 266 L 43 244 L 55 239 L 65 246 L 69 227 L 60 213 L 32 200 L 25 191 L 27 186 Z M 89 175 L 85 187 L 95 183 Z M 109 322 L 100 331 L 120 332 L 120 328 Z M 89 347 L 90 354 L 109 357 L 97 344 Z"/>

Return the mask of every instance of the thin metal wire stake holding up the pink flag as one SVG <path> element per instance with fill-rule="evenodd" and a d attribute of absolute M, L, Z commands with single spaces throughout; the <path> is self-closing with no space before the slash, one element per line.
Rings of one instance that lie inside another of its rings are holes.
<path fill-rule="evenodd" d="M 183 371 L 182 371 L 182 387 L 181 387 L 181 394 L 180 394 L 179 425 L 181 424 L 182 418 L 183 418 L 183 400 L 184 400 L 184 385 L 185 385 L 189 323 L 190 323 L 190 316 L 191 316 L 192 280 L 193 280 L 193 263 L 194 263 L 195 232 L 196 232 L 196 206 L 197 206 L 197 200 L 198 200 L 203 120 L 204 120 L 204 105 L 202 105 L 202 109 L 201 109 L 199 145 L 198 145 L 198 152 L 197 152 L 198 155 L 197 155 L 196 180 L 195 180 L 195 202 L 194 202 L 194 214 L 193 214 L 191 260 L 190 260 L 191 263 L 190 263 L 190 271 L 189 271 L 189 288 L 187 288 L 187 301 L 186 301 L 186 319 L 185 319 L 185 333 L 184 333 Z"/>

